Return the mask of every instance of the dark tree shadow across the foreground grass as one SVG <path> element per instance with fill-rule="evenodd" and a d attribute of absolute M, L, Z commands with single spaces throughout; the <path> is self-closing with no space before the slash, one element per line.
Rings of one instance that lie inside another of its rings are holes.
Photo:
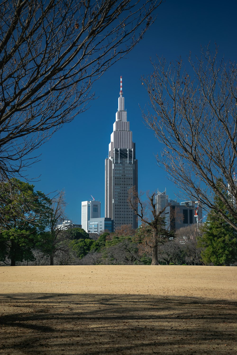
<path fill-rule="evenodd" d="M 233 354 L 237 302 L 199 297 L 7 294 L 0 354 Z"/>

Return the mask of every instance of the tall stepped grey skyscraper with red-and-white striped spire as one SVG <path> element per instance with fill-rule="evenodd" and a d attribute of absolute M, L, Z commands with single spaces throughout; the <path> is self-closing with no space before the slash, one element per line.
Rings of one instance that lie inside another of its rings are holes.
<path fill-rule="evenodd" d="M 121 76 L 118 111 L 105 160 L 105 217 L 114 220 L 114 230 L 124 224 L 138 228 L 137 217 L 128 203 L 128 190 L 133 186 L 138 189 L 138 161 L 124 110 Z"/>

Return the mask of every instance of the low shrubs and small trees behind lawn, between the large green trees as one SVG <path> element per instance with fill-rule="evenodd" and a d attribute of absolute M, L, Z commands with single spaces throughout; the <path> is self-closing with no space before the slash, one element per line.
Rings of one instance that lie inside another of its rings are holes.
<path fill-rule="evenodd" d="M 125 232 L 126 230 L 128 233 Z M 227 260 L 227 252 L 220 253 L 221 242 L 216 250 L 215 262 L 208 260 L 210 246 L 209 248 L 201 246 L 204 241 L 206 242 L 203 235 L 203 231 L 197 230 L 196 226 L 179 229 L 173 239 L 160 242 L 159 263 L 161 265 L 229 265 L 237 262 L 237 258 Z M 28 240 L 27 236 L 25 237 Z M 27 243 L 25 246 L 19 245 L 19 252 L 22 252 L 22 248 L 25 249 L 26 246 Z M 30 258 L 25 254 L 25 260 L 22 258 L 16 264 L 50 265 L 51 248 L 52 244 L 50 238 L 47 239 L 47 233 L 43 239 L 38 235 L 34 246 L 30 251 L 28 250 L 27 255 Z M 129 226 L 122 226 L 115 233 L 104 232 L 99 236 L 91 236 L 81 228 L 60 231 L 54 243 L 54 251 L 55 265 L 150 265 L 152 258 L 152 248 L 144 239 L 142 226 L 137 231 L 131 230 Z M 10 260 L 5 258 L 4 263 L 1 264 L 10 265 Z"/>

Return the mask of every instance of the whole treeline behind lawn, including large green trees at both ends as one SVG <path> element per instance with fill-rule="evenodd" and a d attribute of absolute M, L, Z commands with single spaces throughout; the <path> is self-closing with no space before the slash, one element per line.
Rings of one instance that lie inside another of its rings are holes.
<path fill-rule="evenodd" d="M 61 230 L 63 193 L 50 199 L 28 183 L 1 186 L 0 265 L 150 265 L 153 233 L 149 225 L 128 225 L 114 233 L 88 234 L 81 228 Z M 162 222 L 163 223 L 163 222 Z M 159 236 L 161 265 L 237 264 L 235 230 L 210 212 L 204 226 Z"/>

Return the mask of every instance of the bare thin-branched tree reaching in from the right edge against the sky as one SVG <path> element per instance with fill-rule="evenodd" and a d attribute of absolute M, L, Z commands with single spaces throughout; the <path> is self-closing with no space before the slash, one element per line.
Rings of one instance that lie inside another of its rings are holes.
<path fill-rule="evenodd" d="M 142 79 L 151 102 L 144 120 L 165 145 L 157 161 L 170 179 L 237 230 L 228 217 L 237 220 L 237 67 L 219 60 L 217 47 L 211 53 L 209 46 L 189 63 L 193 75 L 181 58 L 152 63 L 153 72 Z M 215 194 L 229 214 L 215 205 Z"/>

